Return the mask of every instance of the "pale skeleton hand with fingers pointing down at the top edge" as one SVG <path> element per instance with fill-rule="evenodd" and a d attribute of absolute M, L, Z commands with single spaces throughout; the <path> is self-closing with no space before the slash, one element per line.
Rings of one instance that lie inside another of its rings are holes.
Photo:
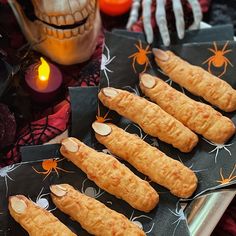
<path fill-rule="evenodd" d="M 194 23 L 190 26 L 189 29 L 197 29 L 200 26 L 200 22 L 202 20 L 202 11 L 201 6 L 198 0 L 187 0 L 192 7 Z M 156 22 L 159 27 L 159 31 L 163 40 L 164 45 L 170 45 L 170 34 L 167 28 L 166 21 L 166 12 L 165 12 L 165 4 L 166 0 L 156 0 Z M 176 29 L 178 33 L 178 37 L 182 39 L 184 37 L 185 32 L 185 22 L 184 22 L 184 14 L 181 0 L 173 0 L 173 11 L 176 20 Z M 127 24 L 127 28 L 129 29 L 138 19 L 138 13 L 141 5 L 141 0 L 133 0 L 133 5 L 129 17 L 129 21 Z M 147 42 L 150 44 L 153 42 L 153 29 L 151 26 L 151 5 L 152 0 L 143 0 L 143 24 L 144 24 L 144 32 L 147 37 Z"/>

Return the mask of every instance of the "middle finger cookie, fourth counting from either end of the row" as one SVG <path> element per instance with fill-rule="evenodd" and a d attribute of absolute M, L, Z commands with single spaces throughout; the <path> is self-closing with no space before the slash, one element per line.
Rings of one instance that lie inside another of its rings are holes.
<path fill-rule="evenodd" d="M 114 124 L 94 122 L 93 129 L 96 139 L 112 154 L 129 162 L 177 197 L 188 198 L 196 190 L 198 181 L 192 170 L 137 135 L 130 134 Z"/>

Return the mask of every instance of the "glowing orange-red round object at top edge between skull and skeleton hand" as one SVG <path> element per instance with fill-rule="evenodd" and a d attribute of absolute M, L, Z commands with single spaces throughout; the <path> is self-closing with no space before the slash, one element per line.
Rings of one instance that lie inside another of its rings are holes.
<path fill-rule="evenodd" d="M 109 16 L 119 16 L 129 11 L 132 0 L 99 0 L 100 9 Z"/>

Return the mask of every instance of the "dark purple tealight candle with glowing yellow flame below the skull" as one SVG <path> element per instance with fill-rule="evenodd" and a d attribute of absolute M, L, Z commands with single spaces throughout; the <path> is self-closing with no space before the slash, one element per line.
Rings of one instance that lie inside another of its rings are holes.
<path fill-rule="evenodd" d="M 25 82 L 33 100 L 50 102 L 58 94 L 62 74 L 55 65 L 41 57 L 40 63 L 31 65 L 26 71 Z"/>

